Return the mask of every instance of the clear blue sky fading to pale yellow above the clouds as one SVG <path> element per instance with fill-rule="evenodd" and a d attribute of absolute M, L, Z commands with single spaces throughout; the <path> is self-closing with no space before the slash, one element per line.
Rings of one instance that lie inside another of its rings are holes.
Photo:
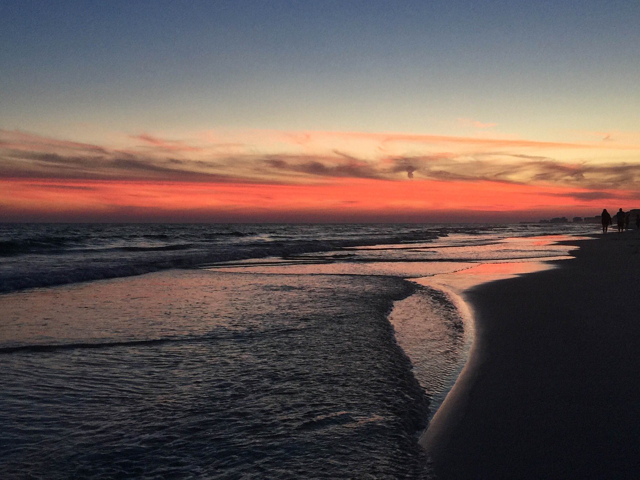
<path fill-rule="evenodd" d="M 0 8 L 0 121 L 10 129 L 456 134 L 456 119 L 471 118 L 506 134 L 556 138 L 637 120 L 633 1 Z"/>

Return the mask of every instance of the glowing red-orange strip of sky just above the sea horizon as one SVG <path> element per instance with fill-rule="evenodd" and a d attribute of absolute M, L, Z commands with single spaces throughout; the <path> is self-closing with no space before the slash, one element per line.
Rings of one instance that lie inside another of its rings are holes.
<path fill-rule="evenodd" d="M 15 178 L 0 180 L 0 189 L 4 221 L 474 221 L 526 212 L 521 220 L 532 220 L 541 212 L 592 216 L 619 203 L 615 195 L 579 200 L 572 195 L 580 192 L 567 188 L 420 179 L 283 185 Z"/>

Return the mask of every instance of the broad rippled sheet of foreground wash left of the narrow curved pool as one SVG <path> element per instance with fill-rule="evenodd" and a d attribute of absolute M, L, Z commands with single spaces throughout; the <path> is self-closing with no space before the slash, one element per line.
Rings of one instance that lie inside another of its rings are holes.
<path fill-rule="evenodd" d="M 42 303 L 4 337 L 3 478 L 428 476 L 427 397 L 387 321 L 411 291 L 176 271 L 4 296 Z"/>

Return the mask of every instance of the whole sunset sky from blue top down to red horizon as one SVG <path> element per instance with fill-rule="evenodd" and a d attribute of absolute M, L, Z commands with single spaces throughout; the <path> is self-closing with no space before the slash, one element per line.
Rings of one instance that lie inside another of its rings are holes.
<path fill-rule="evenodd" d="M 640 207 L 640 3 L 0 3 L 0 221 Z"/>

